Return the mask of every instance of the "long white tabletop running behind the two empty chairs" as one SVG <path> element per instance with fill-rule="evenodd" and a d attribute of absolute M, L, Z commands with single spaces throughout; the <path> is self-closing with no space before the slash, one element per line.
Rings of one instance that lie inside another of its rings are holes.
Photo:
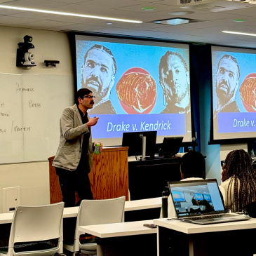
<path fill-rule="evenodd" d="M 142 200 L 126 201 L 124 211 L 130 210 L 144 210 L 150 208 L 159 208 L 162 206 L 162 198 L 149 198 Z M 77 217 L 79 206 L 64 208 L 63 217 Z M 11 223 L 13 220 L 13 213 L 0 213 L 0 224 Z"/>

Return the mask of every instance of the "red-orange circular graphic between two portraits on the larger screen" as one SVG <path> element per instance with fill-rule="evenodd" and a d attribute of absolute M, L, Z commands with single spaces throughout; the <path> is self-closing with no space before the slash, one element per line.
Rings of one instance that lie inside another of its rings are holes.
<path fill-rule="evenodd" d="M 128 114 L 149 114 L 156 105 L 156 81 L 140 67 L 128 69 L 116 84 L 116 94 Z"/>

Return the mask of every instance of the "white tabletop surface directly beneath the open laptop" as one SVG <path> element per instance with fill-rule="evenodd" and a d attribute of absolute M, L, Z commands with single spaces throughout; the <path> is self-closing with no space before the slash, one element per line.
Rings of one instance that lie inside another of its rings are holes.
<path fill-rule="evenodd" d="M 256 229 L 256 219 L 250 219 L 241 222 L 224 222 L 207 225 L 192 224 L 182 222 L 180 220 L 156 219 L 154 220 L 154 224 L 160 227 L 166 227 L 167 229 L 180 231 L 185 234 L 198 234 L 241 229 Z"/>

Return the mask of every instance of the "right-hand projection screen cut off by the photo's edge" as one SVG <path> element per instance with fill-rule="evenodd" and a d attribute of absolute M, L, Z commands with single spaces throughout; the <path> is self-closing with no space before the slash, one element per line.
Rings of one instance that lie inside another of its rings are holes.
<path fill-rule="evenodd" d="M 213 139 L 256 137 L 256 50 L 212 47 Z"/>

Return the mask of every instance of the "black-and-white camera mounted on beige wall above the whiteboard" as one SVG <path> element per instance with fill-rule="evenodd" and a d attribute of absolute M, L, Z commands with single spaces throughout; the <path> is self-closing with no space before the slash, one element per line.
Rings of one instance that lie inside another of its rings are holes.
<path fill-rule="evenodd" d="M 29 53 L 29 49 L 34 49 L 32 36 L 24 36 L 24 42 L 18 43 L 16 67 L 34 67 L 34 53 Z"/>

